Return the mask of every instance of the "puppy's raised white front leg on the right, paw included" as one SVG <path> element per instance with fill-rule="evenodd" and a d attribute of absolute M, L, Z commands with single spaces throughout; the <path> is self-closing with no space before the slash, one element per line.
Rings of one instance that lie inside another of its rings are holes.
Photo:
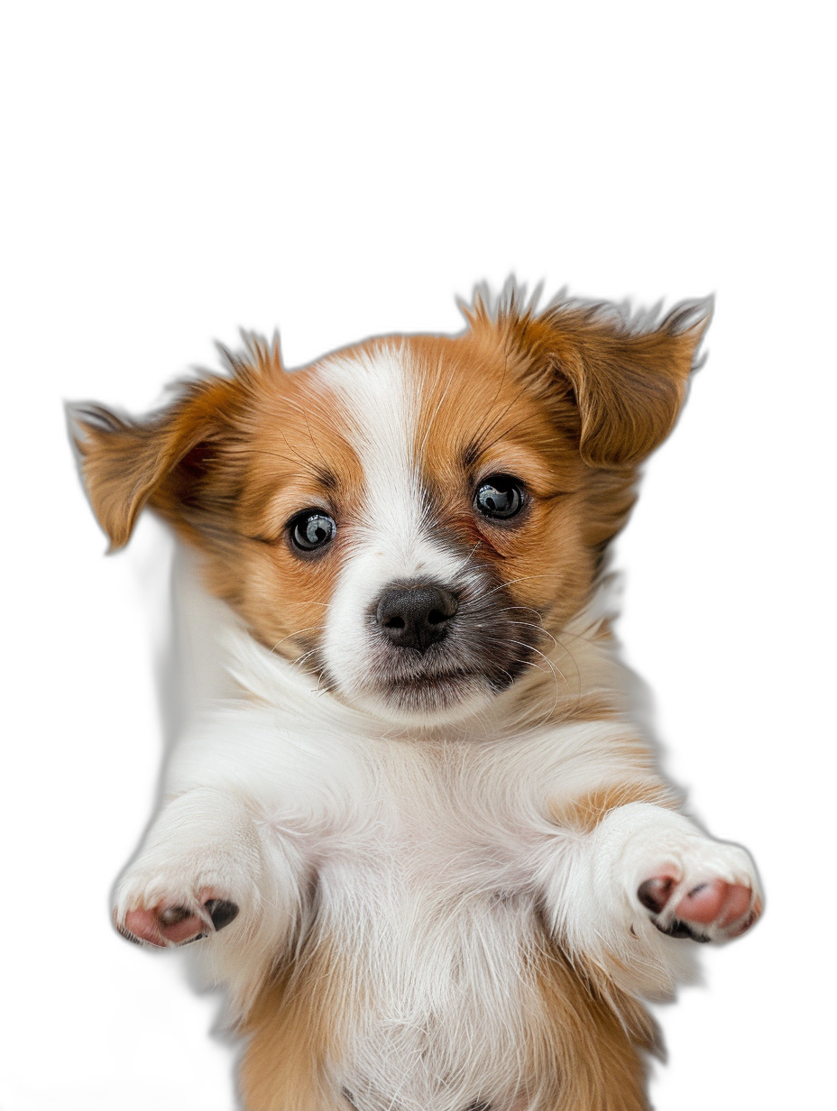
<path fill-rule="evenodd" d="M 764 908 L 745 849 L 647 802 L 617 807 L 562 840 L 546 887 L 552 929 L 567 948 L 652 1001 L 692 978 L 684 943 L 733 941 Z"/>

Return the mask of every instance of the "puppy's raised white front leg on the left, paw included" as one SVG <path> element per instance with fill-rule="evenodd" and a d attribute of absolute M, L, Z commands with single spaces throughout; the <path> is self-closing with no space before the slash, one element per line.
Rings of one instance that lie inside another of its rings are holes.
<path fill-rule="evenodd" d="M 233 922 L 242 937 L 252 937 L 268 904 L 281 929 L 290 877 L 282 877 L 288 865 L 276 855 L 240 799 L 206 788 L 188 791 L 160 809 L 120 877 L 113 924 L 136 944 L 171 948 Z"/>

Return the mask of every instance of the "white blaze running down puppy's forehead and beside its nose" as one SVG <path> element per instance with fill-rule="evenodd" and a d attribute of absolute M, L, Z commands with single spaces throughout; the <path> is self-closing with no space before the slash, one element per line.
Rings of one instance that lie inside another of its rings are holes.
<path fill-rule="evenodd" d="M 331 357 L 320 373 L 363 470 L 363 503 L 353 507 L 351 549 L 322 642 L 329 673 L 349 694 L 369 678 L 369 613 L 381 591 L 415 578 L 449 583 L 462 561 L 434 540 L 425 516 L 417 458 L 422 368 L 409 343 Z"/>

